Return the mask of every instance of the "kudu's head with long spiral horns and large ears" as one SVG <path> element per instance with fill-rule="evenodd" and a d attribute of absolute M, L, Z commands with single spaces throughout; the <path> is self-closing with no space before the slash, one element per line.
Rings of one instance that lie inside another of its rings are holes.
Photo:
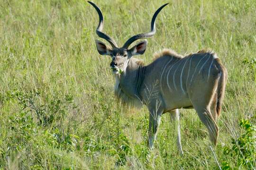
<path fill-rule="evenodd" d="M 121 72 L 126 70 L 128 63 L 129 63 L 129 59 L 131 59 L 132 56 L 144 54 L 144 52 L 146 51 L 146 44 L 147 44 L 146 40 L 138 42 L 135 46 L 133 46 L 130 49 L 128 49 L 128 47 L 132 42 L 134 42 L 138 39 L 149 38 L 155 34 L 155 19 L 156 19 L 158 13 L 166 5 L 168 5 L 168 3 L 166 3 L 165 5 L 161 6 L 160 8 L 158 8 L 155 11 L 155 14 L 151 20 L 151 31 L 150 32 L 132 36 L 131 38 L 129 38 L 127 40 L 127 42 L 124 43 L 124 45 L 122 47 L 119 48 L 113 38 L 111 38 L 109 35 L 101 32 L 103 29 L 103 25 L 104 25 L 101 9 L 97 5 L 95 5 L 93 2 L 91 2 L 91 1 L 88 1 L 88 2 L 97 10 L 97 12 L 99 14 L 100 21 L 99 21 L 99 26 L 96 29 L 96 33 L 99 35 L 99 37 L 107 40 L 110 43 L 110 45 L 112 46 L 112 48 L 110 48 L 104 42 L 96 40 L 97 50 L 101 55 L 111 56 L 112 61 L 110 63 L 110 67 L 111 67 L 113 73 L 115 73 L 115 74 L 120 74 Z"/>

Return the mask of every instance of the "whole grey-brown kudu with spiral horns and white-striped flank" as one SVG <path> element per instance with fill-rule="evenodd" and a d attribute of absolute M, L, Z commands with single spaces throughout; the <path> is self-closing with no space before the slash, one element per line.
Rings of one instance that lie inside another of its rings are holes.
<path fill-rule="evenodd" d="M 110 67 L 116 77 L 115 94 L 125 105 L 140 106 L 145 104 L 149 110 L 148 146 L 153 148 L 161 115 L 170 112 L 171 118 L 178 123 L 177 144 L 182 154 L 179 110 L 194 108 L 202 123 L 208 128 L 210 141 L 216 145 L 219 128 L 216 124 L 221 110 L 227 80 L 227 70 L 217 55 L 211 51 L 198 51 L 188 56 L 181 56 L 171 50 L 164 50 L 155 56 L 155 60 L 143 66 L 134 55 L 146 51 L 147 41 L 129 45 L 141 38 L 155 34 L 155 19 L 167 5 L 158 8 L 151 21 L 151 31 L 137 34 L 125 42 L 122 47 L 107 34 L 102 33 L 103 16 L 100 8 L 88 1 L 98 12 L 100 22 L 96 29 L 99 37 L 107 40 L 112 48 L 96 40 L 97 50 L 101 55 L 110 55 Z"/>

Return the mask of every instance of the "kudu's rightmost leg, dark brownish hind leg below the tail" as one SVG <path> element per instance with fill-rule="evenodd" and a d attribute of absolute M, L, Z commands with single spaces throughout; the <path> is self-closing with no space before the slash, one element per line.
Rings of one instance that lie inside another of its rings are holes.
<path fill-rule="evenodd" d="M 207 107 L 195 107 L 195 110 L 202 123 L 207 127 L 210 141 L 216 146 L 219 134 L 219 127 Z"/>

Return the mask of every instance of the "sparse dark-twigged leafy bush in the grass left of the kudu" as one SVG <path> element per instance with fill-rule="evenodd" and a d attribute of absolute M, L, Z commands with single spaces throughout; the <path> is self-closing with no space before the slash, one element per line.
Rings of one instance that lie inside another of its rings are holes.
<path fill-rule="evenodd" d="M 73 103 L 73 96 L 67 94 L 64 99 L 58 95 L 43 96 L 43 92 L 29 91 L 27 93 L 19 90 L 8 92 L 9 99 L 16 99 L 23 107 L 23 110 L 29 110 L 34 113 L 39 125 L 48 126 L 55 120 L 64 119 L 68 108 Z M 45 101 L 41 102 L 40 98 L 45 97 Z M 75 106 L 72 105 L 74 108 Z"/>

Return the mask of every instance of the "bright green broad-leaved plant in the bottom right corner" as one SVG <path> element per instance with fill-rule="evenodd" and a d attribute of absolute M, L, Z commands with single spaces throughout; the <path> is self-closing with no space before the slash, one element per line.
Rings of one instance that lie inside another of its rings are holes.
<path fill-rule="evenodd" d="M 233 158 L 234 167 L 227 161 L 222 162 L 223 170 L 240 168 L 253 170 L 256 167 L 256 126 L 249 120 L 240 120 L 240 127 L 245 132 L 237 139 L 232 139 L 231 146 L 225 146 L 223 154 Z"/>

